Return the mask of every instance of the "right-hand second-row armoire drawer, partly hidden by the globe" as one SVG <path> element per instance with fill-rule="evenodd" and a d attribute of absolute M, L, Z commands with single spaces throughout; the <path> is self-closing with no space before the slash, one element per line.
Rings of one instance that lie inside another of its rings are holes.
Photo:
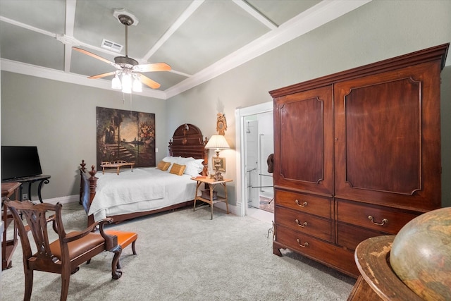
<path fill-rule="evenodd" d="M 367 228 L 351 226 L 347 223 L 337 223 L 337 245 L 347 247 L 353 251 L 360 242 L 368 238 L 387 234 L 388 233 L 373 231 Z"/>

